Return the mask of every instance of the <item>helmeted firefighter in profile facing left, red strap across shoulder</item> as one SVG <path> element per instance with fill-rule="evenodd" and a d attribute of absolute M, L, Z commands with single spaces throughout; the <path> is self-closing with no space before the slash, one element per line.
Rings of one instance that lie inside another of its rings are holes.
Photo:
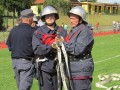
<path fill-rule="evenodd" d="M 66 41 L 74 90 L 91 90 L 94 63 L 91 55 L 94 39 L 85 21 L 86 12 L 81 6 L 73 7 L 68 16 L 72 30 Z"/>

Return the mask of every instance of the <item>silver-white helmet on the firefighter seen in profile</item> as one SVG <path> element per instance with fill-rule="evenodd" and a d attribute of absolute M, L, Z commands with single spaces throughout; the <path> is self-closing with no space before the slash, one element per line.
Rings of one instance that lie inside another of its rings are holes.
<path fill-rule="evenodd" d="M 85 12 L 85 10 L 81 6 L 73 7 L 69 11 L 68 16 L 70 16 L 70 14 L 78 15 L 78 16 L 80 16 L 83 19 L 83 21 L 86 22 L 86 12 Z"/>

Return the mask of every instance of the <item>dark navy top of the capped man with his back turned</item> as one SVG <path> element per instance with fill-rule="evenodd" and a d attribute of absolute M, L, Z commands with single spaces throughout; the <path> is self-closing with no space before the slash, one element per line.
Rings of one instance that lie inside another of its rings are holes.
<path fill-rule="evenodd" d="M 21 23 L 11 30 L 6 44 L 12 52 L 12 58 L 29 60 L 34 57 L 32 49 L 33 33 L 34 28 L 26 23 Z"/>

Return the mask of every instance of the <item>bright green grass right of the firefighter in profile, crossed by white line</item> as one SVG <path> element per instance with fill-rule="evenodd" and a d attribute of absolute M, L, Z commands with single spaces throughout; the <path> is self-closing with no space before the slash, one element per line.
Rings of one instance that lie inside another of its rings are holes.
<path fill-rule="evenodd" d="M 105 37 L 95 38 L 95 45 L 93 47 L 93 58 L 95 62 L 95 70 L 93 75 L 93 89 L 92 90 L 105 90 L 95 87 L 98 82 L 98 75 L 120 74 L 120 35 L 110 35 Z M 114 58 L 115 56 L 118 56 Z M 111 59 L 110 59 L 111 58 Z M 100 62 L 101 61 L 101 62 Z M 115 83 L 112 83 L 114 85 Z M 108 84 L 108 87 L 112 86 Z M 120 85 L 117 82 L 115 85 Z"/>

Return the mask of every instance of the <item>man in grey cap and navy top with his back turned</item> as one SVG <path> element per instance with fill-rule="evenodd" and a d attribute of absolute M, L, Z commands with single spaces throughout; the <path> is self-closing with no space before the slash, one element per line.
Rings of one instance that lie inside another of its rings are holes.
<path fill-rule="evenodd" d="M 31 9 L 23 10 L 21 12 L 22 22 L 11 30 L 6 42 L 11 51 L 18 90 L 30 90 L 33 82 L 35 70 L 32 49 L 34 29 L 31 27 L 33 15 Z"/>

